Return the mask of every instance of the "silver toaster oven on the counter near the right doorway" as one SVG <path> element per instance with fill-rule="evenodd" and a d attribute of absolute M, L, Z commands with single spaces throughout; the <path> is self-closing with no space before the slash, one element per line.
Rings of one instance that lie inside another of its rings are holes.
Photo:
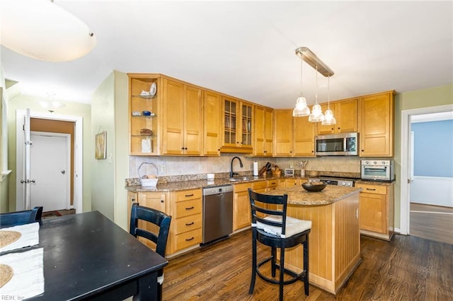
<path fill-rule="evenodd" d="M 394 160 L 361 160 L 360 178 L 374 181 L 393 181 L 395 179 Z"/>

